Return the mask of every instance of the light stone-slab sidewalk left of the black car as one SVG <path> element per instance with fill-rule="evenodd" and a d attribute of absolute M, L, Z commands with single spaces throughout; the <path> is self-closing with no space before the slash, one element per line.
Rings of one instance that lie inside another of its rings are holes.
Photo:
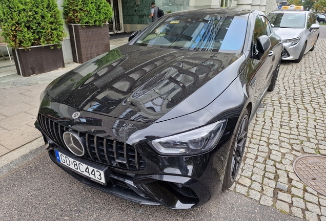
<path fill-rule="evenodd" d="M 0 89 L 0 156 L 41 136 L 34 122 L 47 84 Z"/>

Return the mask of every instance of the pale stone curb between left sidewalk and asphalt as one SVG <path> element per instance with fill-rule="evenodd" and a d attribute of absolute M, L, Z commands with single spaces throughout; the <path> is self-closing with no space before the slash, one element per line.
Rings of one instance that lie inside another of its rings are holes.
<path fill-rule="evenodd" d="M 0 157 L 0 177 L 46 152 L 42 137 Z"/>

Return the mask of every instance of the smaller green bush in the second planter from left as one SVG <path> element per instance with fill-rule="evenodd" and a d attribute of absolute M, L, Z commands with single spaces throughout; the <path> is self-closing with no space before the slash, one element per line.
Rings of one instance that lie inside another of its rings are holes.
<path fill-rule="evenodd" d="M 106 0 L 64 0 L 67 23 L 103 26 L 112 19 L 112 8 Z"/>

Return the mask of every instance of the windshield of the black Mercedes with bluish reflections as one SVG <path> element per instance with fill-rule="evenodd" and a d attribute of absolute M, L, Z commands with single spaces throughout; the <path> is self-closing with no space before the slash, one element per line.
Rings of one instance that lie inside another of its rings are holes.
<path fill-rule="evenodd" d="M 247 17 L 181 14 L 162 18 L 137 39 L 134 45 L 180 50 L 242 51 Z"/>

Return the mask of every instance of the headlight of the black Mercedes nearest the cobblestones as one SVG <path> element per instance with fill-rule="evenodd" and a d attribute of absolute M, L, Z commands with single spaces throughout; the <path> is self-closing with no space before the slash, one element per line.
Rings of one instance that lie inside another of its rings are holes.
<path fill-rule="evenodd" d="M 199 154 L 215 147 L 226 125 L 227 120 L 222 120 L 182 134 L 156 139 L 149 144 L 159 154 L 166 156 Z"/>

